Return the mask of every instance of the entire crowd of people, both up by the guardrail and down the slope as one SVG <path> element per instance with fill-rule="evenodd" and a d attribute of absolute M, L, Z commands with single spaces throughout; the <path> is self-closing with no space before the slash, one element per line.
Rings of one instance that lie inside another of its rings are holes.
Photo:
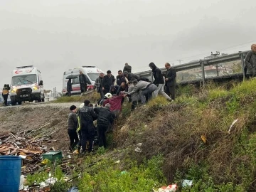
<path fill-rule="evenodd" d="M 166 74 L 154 63 L 149 63 L 154 75 L 154 82 L 139 78 L 132 73 L 132 67 L 126 63 L 124 72 L 118 71 L 116 78 L 111 71 L 107 75 L 100 73 L 95 82 L 95 90 L 100 93 L 100 100 L 95 107 L 85 100 L 79 108 L 72 105 L 68 116 L 68 135 L 70 150 L 85 154 L 86 149 L 93 151 L 93 141 L 97 132 L 99 146 L 107 147 L 106 132 L 122 111 L 122 104 L 127 97 L 132 102 L 132 110 L 138 103 L 144 105 L 151 97 L 163 95 L 166 100 L 175 99 L 176 70 L 169 63 L 165 64 Z M 96 124 L 95 124 L 96 122 Z M 88 147 L 87 146 L 88 144 Z M 77 149 L 75 149 L 77 146 Z"/>

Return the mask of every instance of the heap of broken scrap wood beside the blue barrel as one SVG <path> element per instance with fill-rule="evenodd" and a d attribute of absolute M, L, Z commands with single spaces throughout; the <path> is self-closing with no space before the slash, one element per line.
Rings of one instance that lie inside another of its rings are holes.
<path fill-rule="evenodd" d="M 0 155 L 21 156 L 23 159 L 22 174 L 37 171 L 41 163 L 41 155 L 46 152 L 45 144 L 55 142 L 48 137 L 28 137 L 13 132 L 0 132 Z"/>

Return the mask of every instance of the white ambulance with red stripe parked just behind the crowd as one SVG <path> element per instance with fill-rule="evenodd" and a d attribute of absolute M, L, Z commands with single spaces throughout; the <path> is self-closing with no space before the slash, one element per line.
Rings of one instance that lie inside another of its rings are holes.
<path fill-rule="evenodd" d="M 68 75 L 75 75 L 78 78 L 72 79 L 72 95 L 80 94 L 80 82 L 79 82 L 79 71 L 82 70 L 82 73 L 85 74 L 86 81 L 87 81 L 87 90 L 92 90 L 95 84 L 95 80 L 99 78 L 100 73 L 103 73 L 102 70 L 96 68 L 95 66 L 82 66 L 81 68 L 73 68 L 70 70 L 66 70 L 63 73 L 63 95 L 67 95 L 67 82 Z"/>

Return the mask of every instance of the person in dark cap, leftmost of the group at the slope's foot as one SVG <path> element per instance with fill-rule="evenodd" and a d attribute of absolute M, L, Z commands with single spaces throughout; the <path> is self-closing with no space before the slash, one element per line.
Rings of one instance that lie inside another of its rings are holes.
<path fill-rule="evenodd" d="M 70 138 L 70 151 L 73 151 L 76 144 L 78 144 L 78 134 L 76 129 L 78 127 L 78 118 L 76 116 L 77 108 L 75 105 L 70 106 L 70 114 L 68 114 L 68 136 Z"/>

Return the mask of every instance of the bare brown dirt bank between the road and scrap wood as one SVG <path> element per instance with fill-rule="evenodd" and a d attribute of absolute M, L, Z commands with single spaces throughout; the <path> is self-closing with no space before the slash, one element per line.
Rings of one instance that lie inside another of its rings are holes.
<path fill-rule="evenodd" d="M 80 103 L 44 103 L 0 107 L 0 132 L 19 133 L 25 130 L 28 133 L 38 129 L 36 132 L 31 132 L 31 137 L 51 136 L 52 140 L 57 141 L 50 143 L 48 147 L 65 151 L 69 144 L 67 119 L 70 105 L 79 107 Z"/>

